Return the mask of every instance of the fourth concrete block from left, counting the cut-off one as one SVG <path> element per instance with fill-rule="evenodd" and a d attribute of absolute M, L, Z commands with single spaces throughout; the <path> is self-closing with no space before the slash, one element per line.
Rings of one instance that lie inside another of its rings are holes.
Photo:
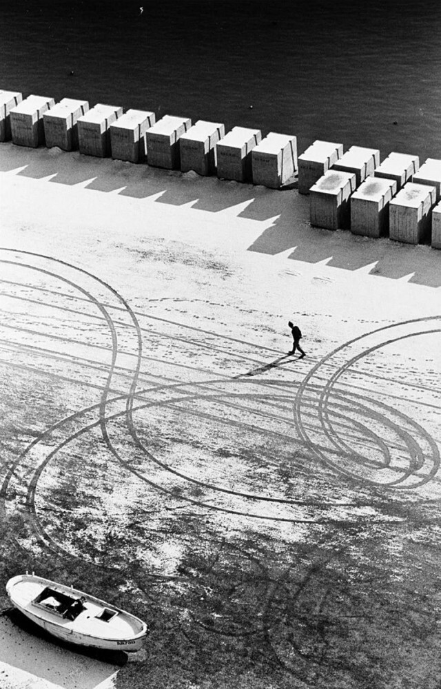
<path fill-rule="evenodd" d="M 116 105 L 97 103 L 79 117 L 78 143 L 80 153 L 105 158 L 110 155 L 110 125 L 123 114 L 123 108 Z"/>

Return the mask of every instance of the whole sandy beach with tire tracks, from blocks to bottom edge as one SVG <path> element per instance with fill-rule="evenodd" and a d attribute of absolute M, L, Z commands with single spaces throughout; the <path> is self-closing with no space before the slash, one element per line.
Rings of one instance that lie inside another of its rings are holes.
<path fill-rule="evenodd" d="M 0 686 L 437 689 L 441 252 L 56 148 L 0 187 L 1 607 L 28 569 L 151 627 L 49 672 L 3 615 Z"/>

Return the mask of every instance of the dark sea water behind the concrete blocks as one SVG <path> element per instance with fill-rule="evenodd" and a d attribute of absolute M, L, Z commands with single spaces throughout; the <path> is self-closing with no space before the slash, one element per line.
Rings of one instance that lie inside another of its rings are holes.
<path fill-rule="evenodd" d="M 295 134 L 299 152 L 322 138 L 441 158 L 440 0 L 2 0 L 0 12 L 0 88 L 23 96 Z"/>

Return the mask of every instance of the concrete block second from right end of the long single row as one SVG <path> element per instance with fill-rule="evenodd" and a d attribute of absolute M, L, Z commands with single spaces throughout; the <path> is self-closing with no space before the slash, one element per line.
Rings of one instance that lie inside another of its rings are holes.
<path fill-rule="evenodd" d="M 260 130 L 233 127 L 231 132 L 216 144 L 219 178 L 237 182 L 252 181 L 251 152 L 262 141 Z"/>

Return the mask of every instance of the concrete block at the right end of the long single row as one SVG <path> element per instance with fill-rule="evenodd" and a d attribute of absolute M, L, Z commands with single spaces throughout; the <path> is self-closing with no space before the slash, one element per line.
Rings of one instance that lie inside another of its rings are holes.
<path fill-rule="evenodd" d="M 253 183 L 278 189 L 297 169 L 297 138 L 269 132 L 251 152 Z"/>

